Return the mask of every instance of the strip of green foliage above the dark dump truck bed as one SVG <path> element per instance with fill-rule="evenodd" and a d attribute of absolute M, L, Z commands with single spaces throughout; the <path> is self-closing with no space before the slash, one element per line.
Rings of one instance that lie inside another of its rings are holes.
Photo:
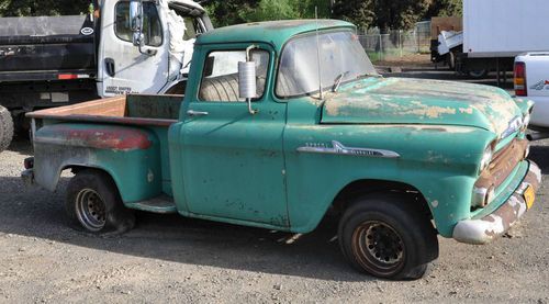
<path fill-rule="evenodd" d="M 90 0 L 0 0 L 0 16 L 80 14 L 89 4 Z"/>

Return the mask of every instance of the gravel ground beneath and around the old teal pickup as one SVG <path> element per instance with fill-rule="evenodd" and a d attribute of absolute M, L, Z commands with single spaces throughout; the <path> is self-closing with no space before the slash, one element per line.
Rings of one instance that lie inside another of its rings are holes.
<path fill-rule="evenodd" d="M 0 303 L 549 303 L 549 140 L 531 148 L 545 181 L 508 235 L 486 246 L 440 238 L 424 279 L 393 282 L 344 261 L 334 223 L 296 243 L 290 235 L 139 213 L 115 238 L 74 230 L 56 193 L 20 181 L 31 146 L 0 154 Z"/>

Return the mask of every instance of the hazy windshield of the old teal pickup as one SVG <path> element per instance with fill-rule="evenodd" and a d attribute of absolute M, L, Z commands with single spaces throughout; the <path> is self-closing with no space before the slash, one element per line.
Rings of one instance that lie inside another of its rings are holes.
<path fill-rule="evenodd" d="M 277 95 L 288 98 L 318 92 L 321 78 L 323 90 L 328 90 L 370 75 L 378 74 L 352 32 L 301 36 L 290 41 L 282 52 Z"/>

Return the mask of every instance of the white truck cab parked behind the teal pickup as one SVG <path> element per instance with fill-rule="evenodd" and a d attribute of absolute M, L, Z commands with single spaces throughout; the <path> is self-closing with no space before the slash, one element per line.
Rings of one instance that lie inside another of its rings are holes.
<path fill-rule="evenodd" d="M 104 0 L 100 5 L 99 94 L 183 93 L 194 41 L 213 29 L 205 10 L 189 0 L 139 2 L 143 46 L 138 46 L 132 2 Z"/>

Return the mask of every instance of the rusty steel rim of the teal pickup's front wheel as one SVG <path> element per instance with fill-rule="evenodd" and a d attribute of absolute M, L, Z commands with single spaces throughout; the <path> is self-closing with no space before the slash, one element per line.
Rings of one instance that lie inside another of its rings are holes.
<path fill-rule="evenodd" d="M 355 229 L 352 250 L 358 262 L 377 275 L 391 275 L 404 267 L 405 246 L 390 225 L 369 221 Z"/>

